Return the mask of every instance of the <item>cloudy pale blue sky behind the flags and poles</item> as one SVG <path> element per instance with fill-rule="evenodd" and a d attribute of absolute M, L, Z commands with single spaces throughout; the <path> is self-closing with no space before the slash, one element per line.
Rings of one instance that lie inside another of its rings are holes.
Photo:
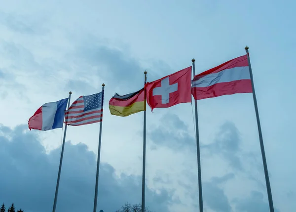
<path fill-rule="evenodd" d="M 276 212 L 296 208 L 296 4 L 237 0 L 10 0 L 0 7 L 0 203 L 52 210 L 63 129 L 28 129 L 44 103 L 105 83 L 98 211 L 141 203 L 143 112 L 108 102 L 184 69 L 196 74 L 248 45 Z M 268 212 L 251 93 L 198 100 L 204 212 Z M 146 206 L 198 211 L 191 103 L 147 111 Z M 58 211 L 93 209 L 99 124 L 68 127 Z"/>

